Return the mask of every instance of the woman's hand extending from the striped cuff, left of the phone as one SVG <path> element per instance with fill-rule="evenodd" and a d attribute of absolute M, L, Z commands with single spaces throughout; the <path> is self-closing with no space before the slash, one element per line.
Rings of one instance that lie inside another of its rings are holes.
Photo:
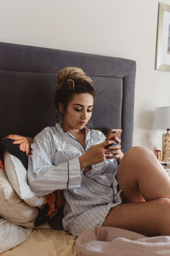
<path fill-rule="evenodd" d="M 79 157 L 81 169 L 103 162 L 108 157 L 110 159 L 115 158 L 114 155 L 110 155 L 112 150 L 110 151 L 109 148 L 106 148 L 111 143 L 114 143 L 114 141 L 105 141 L 88 148 L 87 152 Z"/>

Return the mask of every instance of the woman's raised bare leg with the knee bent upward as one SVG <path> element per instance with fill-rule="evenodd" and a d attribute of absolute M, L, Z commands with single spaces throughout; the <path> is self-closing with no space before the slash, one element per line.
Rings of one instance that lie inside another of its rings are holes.
<path fill-rule="evenodd" d="M 117 180 L 127 201 L 170 198 L 170 177 L 147 148 L 133 147 L 127 151 L 119 166 Z"/>

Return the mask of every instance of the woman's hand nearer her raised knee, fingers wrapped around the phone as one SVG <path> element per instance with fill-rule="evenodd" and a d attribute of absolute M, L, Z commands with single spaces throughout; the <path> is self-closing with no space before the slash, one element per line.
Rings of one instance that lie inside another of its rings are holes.
<path fill-rule="evenodd" d="M 123 153 L 122 153 L 122 146 L 121 146 L 121 139 L 118 137 L 114 137 L 114 142 L 117 144 L 115 146 L 111 146 L 108 149 L 110 149 L 110 154 L 113 154 L 113 156 L 106 157 L 107 159 L 113 159 L 115 158 L 119 162 L 122 160 Z"/>

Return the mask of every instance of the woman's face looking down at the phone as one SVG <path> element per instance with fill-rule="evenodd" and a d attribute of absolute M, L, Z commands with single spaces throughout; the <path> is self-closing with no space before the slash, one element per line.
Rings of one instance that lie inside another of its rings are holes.
<path fill-rule="evenodd" d="M 92 116 L 94 97 L 88 93 L 73 96 L 64 113 L 62 125 L 65 131 L 82 130 Z M 62 112 L 64 106 L 59 103 Z"/>

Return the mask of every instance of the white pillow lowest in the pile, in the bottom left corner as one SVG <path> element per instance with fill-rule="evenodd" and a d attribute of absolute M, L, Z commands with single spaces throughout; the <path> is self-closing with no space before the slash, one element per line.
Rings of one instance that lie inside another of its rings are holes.
<path fill-rule="evenodd" d="M 0 218 L 0 253 L 26 241 L 30 234 L 31 229 L 22 228 Z"/>

